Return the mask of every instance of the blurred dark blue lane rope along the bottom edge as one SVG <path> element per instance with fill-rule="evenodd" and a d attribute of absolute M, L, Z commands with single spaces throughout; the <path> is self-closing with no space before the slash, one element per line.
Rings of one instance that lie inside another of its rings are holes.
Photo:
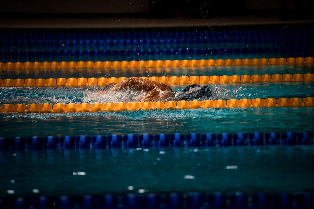
<path fill-rule="evenodd" d="M 314 193 L 302 194 L 125 194 L 83 196 L 28 196 L 0 198 L 0 208 L 314 208 Z"/>

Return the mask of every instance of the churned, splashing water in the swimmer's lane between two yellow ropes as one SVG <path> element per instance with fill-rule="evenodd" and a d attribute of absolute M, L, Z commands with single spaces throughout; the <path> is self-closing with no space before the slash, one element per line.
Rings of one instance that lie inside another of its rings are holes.
<path fill-rule="evenodd" d="M 291 91 L 290 85 L 286 84 L 208 84 L 212 97 L 205 99 L 242 99 L 242 98 L 292 98 L 312 96 L 313 84 L 305 86 L 296 85 L 294 91 Z M 166 99 L 167 101 L 178 101 L 184 98 L 183 89 L 186 86 L 172 86 L 174 97 Z M 280 91 L 278 91 L 280 90 Z M 7 88 L 0 87 L 0 104 L 69 104 L 69 103 L 117 103 L 117 102 L 137 102 L 146 92 L 136 90 L 123 91 L 99 91 L 98 87 L 22 87 Z M 193 99 L 190 99 L 193 100 Z"/>

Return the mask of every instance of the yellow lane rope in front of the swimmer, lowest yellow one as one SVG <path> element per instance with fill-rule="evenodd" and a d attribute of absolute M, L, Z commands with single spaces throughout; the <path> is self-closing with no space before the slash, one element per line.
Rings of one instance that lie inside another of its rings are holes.
<path fill-rule="evenodd" d="M 81 104 L 3 104 L 0 112 L 28 113 L 63 113 L 63 112 L 103 112 L 103 111 L 132 111 L 151 109 L 199 109 L 199 108 L 234 108 L 234 107 L 314 107 L 314 97 L 306 98 L 267 98 L 267 99 L 217 99 L 167 102 L 118 102 L 118 103 L 81 103 Z"/>

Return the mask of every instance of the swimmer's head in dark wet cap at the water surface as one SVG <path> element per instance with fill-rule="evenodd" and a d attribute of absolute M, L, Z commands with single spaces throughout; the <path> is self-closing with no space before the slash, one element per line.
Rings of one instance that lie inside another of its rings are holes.
<path fill-rule="evenodd" d="M 200 99 L 203 97 L 211 97 L 212 94 L 207 86 L 200 86 L 197 84 L 192 84 L 187 86 L 184 90 L 183 99 Z"/>

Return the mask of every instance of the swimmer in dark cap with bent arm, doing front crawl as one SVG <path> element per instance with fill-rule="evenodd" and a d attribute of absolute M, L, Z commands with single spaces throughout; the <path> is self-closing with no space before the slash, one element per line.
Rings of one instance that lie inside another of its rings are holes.
<path fill-rule="evenodd" d="M 117 84 L 108 84 L 110 91 L 121 91 L 128 89 L 135 89 L 137 91 L 146 92 L 146 94 L 139 98 L 137 102 L 156 102 L 156 101 L 171 101 L 171 100 L 189 100 L 201 99 L 203 97 L 211 97 L 211 92 L 207 86 L 200 86 L 192 84 L 187 86 L 183 92 L 173 91 L 172 88 L 163 83 L 145 80 L 141 78 L 127 78 Z M 105 87 L 105 90 L 106 90 Z"/>

